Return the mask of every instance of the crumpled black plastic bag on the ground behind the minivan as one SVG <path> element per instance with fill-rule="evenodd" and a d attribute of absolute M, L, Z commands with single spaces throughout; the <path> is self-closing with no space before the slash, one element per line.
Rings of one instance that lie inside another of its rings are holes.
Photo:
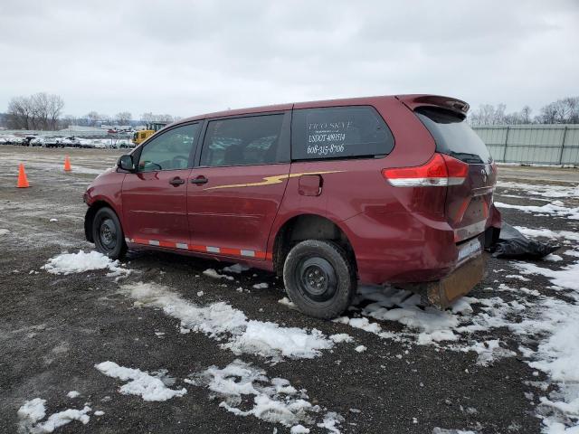
<path fill-rule="evenodd" d="M 529 240 L 510 224 L 503 222 L 498 241 L 490 247 L 495 258 L 541 259 L 560 246 Z"/>

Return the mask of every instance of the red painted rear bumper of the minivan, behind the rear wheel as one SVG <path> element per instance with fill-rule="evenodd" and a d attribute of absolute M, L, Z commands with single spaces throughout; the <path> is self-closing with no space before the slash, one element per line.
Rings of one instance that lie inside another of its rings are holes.
<path fill-rule="evenodd" d="M 447 277 L 465 262 L 460 258 L 463 244 L 478 238 L 484 249 L 496 241 L 500 213 L 494 206 L 490 211 L 489 219 L 479 230 L 460 243 L 448 222 L 417 212 L 384 212 L 376 208 L 340 222 L 339 226 L 355 252 L 362 284 L 432 282 Z"/>

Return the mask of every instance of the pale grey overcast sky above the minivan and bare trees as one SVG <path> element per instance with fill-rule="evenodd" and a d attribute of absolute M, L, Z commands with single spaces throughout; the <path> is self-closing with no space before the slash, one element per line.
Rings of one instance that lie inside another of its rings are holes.
<path fill-rule="evenodd" d="M 65 114 L 436 93 L 517 110 L 579 95 L 579 1 L 0 3 L 0 111 Z"/>

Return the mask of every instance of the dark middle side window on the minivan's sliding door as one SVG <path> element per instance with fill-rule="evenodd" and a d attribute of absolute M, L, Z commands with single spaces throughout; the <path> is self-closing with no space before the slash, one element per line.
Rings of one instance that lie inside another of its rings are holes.
<path fill-rule="evenodd" d="M 283 114 L 212 120 L 201 165 L 265 165 L 278 161 Z"/>

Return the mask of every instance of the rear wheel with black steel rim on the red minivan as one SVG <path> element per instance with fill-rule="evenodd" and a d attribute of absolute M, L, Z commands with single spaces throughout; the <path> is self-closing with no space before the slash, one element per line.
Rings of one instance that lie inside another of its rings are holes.
<path fill-rule="evenodd" d="M 288 296 L 308 316 L 339 316 L 356 296 L 354 264 L 335 242 L 301 241 L 289 250 L 283 264 Z"/>

